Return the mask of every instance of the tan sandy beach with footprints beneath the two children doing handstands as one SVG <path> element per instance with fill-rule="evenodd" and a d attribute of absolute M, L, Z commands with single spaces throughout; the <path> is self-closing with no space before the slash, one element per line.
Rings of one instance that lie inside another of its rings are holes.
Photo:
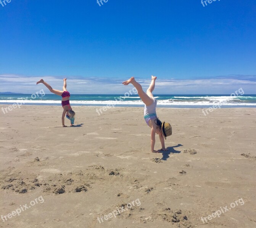
<path fill-rule="evenodd" d="M 1 112 L 0 227 L 256 227 L 256 109 L 158 108 L 159 154 L 143 108 L 73 109 Z"/>

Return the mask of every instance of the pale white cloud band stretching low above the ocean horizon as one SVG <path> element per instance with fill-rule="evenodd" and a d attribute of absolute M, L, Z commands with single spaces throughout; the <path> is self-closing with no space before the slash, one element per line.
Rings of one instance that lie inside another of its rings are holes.
<path fill-rule="evenodd" d="M 54 89 L 62 90 L 61 77 L 42 77 Z M 0 75 L 0 92 L 35 93 L 43 84 L 36 85 L 40 77 L 2 74 Z M 125 79 L 124 79 L 125 80 Z M 150 79 L 136 79 L 147 89 Z M 121 79 L 72 76 L 67 80 L 67 89 L 73 94 L 123 94 L 132 85 L 123 86 Z M 245 93 L 255 93 L 256 75 L 217 76 L 215 78 L 161 79 L 156 81 L 155 94 L 230 94 L 243 88 Z M 50 93 L 45 90 L 46 93 Z"/>

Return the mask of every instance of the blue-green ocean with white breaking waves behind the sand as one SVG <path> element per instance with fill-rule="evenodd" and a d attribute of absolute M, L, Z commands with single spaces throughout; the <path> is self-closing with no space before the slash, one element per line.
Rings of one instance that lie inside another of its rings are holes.
<path fill-rule="evenodd" d="M 221 108 L 256 108 L 256 95 L 154 95 L 158 107 L 166 108 L 206 108 L 219 105 Z M 55 94 L 44 96 L 31 94 L 0 94 L 0 104 L 23 103 L 24 105 L 61 105 L 61 97 Z M 88 95 L 71 94 L 71 105 L 86 106 L 144 106 L 138 95 Z"/>

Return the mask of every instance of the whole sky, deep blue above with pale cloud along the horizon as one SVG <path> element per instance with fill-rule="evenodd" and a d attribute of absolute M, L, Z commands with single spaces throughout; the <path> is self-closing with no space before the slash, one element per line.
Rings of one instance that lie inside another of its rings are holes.
<path fill-rule="evenodd" d="M 0 21 L 0 92 L 67 77 L 71 93 L 122 93 L 153 74 L 156 93 L 255 93 L 255 0 L 11 0 Z"/>

